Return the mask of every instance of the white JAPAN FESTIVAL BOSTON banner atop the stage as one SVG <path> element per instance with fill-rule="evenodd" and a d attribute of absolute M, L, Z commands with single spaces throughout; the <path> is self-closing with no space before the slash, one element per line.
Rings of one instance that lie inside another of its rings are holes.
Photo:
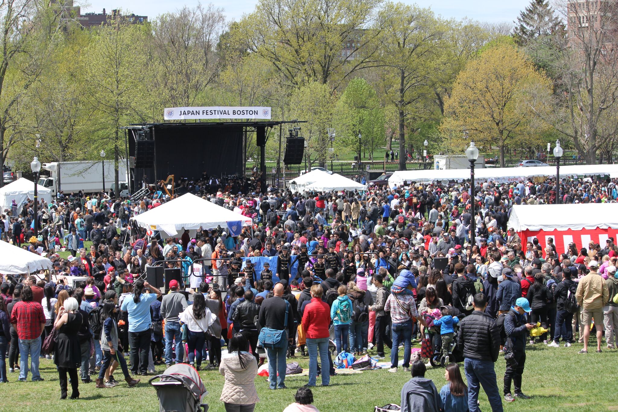
<path fill-rule="evenodd" d="M 270 119 L 271 108 L 261 106 L 166 107 L 165 120 L 185 119 Z"/>

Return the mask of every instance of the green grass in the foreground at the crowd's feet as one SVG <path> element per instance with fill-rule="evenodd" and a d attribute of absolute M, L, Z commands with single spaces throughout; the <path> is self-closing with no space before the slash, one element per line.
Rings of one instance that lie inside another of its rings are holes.
<path fill-rule="evenodd" d="M 593 342 L 591 342 L 593 343 Z M 418 347 L 418 344 L 417 344 Z M 618 410 L 618 391 L 616 390 L 617 350 L 604 350 L 603 353 L 578 355 L 581 344 L 570 348 L 547 348 L 544 345 L 528 347 L 527 363 L 523 375 L 523 392 L 530 400 L 515 400 L 504 403 L 505 411 L 611 411 Z M 373 352 L 375 353 L 375 352 Z M 296 359 L 307 368 L 308 358 Z M 463 368 L 463 364 L 461 364 Z M 158 366 L 158 372 L 164 366 Z M 463 371 L 462 371 L 463 372 Z M 498 388 L 502 392 L 504 359 L 496 363 Z M 157 411 L 158 400 L 153 387 L 147 384 L 148 377 L 142 377 L 137 387 L 129 389 L 122 382 L 112 389 L 95 389 L 95 384 L 80 383 L 80 400 L 59 400 L 60 389 L 56 368 L 52 361 L 41 359 L 41 376 L 44 382 L 17 382 L 17 372 L 8 374 L 9 383 L 2 385 L 4 400 L 2 411 Z M 116 372 L 116 379 L 122 374 Z M 218 371 L 201 371 L 209 395 L 210 411 L 224 411 L 219 401 L 223 378 Z M 426 377 L 433 379 L 438 390 L 446 382 L 444 369 L 428 370 Z M 410 379 L 410 374 L 402 368 L 396 374 L 386 369 L 365 371 L 362 374 L 339 375 L 331 377 L 331 386 L 313 389 L 315 405 L 323 412 L 371 412 L 375 405 L 399 403 L 402 385 Z M 282 411 L 294 400 L 296 390 L 307 384 L 307 376 L 287 376 L 288 389 L 269 390 L 266 379 L 256 378 L 260 402 L 256 411 Z M 481 409 L 490 410 L 485 393 L 480 395 Z"/>

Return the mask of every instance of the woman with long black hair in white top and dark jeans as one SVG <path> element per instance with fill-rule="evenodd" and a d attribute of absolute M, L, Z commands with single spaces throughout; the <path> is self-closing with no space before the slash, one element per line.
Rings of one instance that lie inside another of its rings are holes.
<path fill-rule="evenodd" d="M 193 305 L 187 306 L 184 312 L 178 315 L 180 321 L 188 328 L 188 358 L 189 364 L 200 370 L 201 351 L 206 342 L 206 332 L 213 324 L 216 315 L 206 308 L 206 299 L 201 293 L 193 294 Z"/>

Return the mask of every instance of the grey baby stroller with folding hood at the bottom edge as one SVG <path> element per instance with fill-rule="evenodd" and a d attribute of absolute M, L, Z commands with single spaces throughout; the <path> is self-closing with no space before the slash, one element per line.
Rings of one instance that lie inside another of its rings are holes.
<path fill-rule="evenodd" d="M 155 379 L 159 382 L 153 382 Z M 170 366 L 148 382 L 156 389 L 159 412 L 202 412 L 201 408 L 203 412 L 208 411 L 208 405 L 201 403 L 201 399 L 208 395 L 206 387 L 198 372 L 188 364 Z"/>

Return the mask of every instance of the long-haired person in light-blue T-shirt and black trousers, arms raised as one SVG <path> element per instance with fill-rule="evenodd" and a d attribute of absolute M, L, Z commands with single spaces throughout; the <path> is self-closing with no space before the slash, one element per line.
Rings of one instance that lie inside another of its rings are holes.
<path fill-rule="evenodd" d="M 143 293 L 145 287 L 155 293 Z M 150 351 L 150 304 L 159 296 L 160 290 L 140 279 L 133 283 L 133 298 L 127 297 L 122 301 L 121 310 L 127 312 L 129 318 L 130 362 L 134 375 L 148 374 L 146 368 Z"/>

